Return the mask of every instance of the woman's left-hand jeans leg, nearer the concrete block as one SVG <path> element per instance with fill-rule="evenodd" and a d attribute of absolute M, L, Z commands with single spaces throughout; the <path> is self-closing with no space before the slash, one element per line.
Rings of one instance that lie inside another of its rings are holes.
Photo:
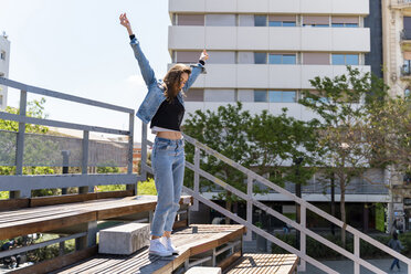
<path fill-rule="evenodd" d="M 172 157 L 170 157 L 169 151 L 164 151 L 160 148 L 156 147 L 151 155 L 157 189 L 157 205 L 151 224 L 152 239 L 160 238 L 164 234 L 167 217 L 173 205 Z"/>

